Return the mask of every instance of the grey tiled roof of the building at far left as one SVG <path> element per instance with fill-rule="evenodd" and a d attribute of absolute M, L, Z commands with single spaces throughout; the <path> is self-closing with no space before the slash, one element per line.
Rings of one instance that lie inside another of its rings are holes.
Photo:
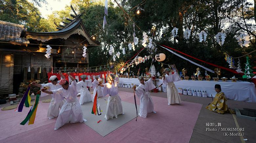
<path fill-rule="evenodd" d="M 28 39 L 20 37 L 22 30 L 26 31 L 24 25 L 0 21 L 0 41 L 28 44 Z"/>

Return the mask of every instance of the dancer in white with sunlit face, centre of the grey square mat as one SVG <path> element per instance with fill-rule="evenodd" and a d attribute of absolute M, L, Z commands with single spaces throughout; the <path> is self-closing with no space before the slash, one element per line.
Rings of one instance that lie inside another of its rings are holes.
<path fill-rule="evenodd" d="M 118 87 L 116 82 L 116 74 L 109 74 L 107 77 L 109 80 L 105 84 L 99 84 L 102 87 L 103 96 L 109 94 L 107 111 L 105 115 L 105 119 L 113 119 L 123 113 L 123 106 L 121 103 L 121 98 L 118 95 Z"/>

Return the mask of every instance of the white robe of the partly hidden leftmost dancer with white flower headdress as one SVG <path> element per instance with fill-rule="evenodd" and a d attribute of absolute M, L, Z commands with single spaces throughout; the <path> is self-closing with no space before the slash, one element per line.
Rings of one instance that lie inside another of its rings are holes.
<path fill-rule="evenodd" d="M 41 88 L 43 88 L 43 87 L 50 87 L 48 90 L 56 90 L 56 89 L 62 88 L 62 86 L 59 85 L 59 81 L 56 83 L 56 85 L 54 85 L 52 83 L 41 84 Z M 41 97 L 46 96 L 46 95 L 49 95 L 49 94 L 41 92 Z M 65 102 L 66 101 L 64 99 L 59 103 L 55 103 L 54 98 L 52 98 L 50 106 L 48 108 L 47 118 L 53 119 L 54 117 L 58 117 L 59 108 L 61 108 Z"/>

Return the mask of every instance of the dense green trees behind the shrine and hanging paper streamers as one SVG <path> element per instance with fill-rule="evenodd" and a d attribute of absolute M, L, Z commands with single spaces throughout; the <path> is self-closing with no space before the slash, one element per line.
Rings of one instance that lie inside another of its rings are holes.
<path fill-rule="evenodd" d="M 3 2 L 3 4 L 1 2 Z M 7 3 L 10 2 L 11 0 L 0 0 L 0 7 L 7 5 Z M 143 38 L 142 31 L 146 32 L 155 43 L 167 45 L 204 61 L 227 68 L 228 63 L 224 60 L 225 56 L 223 53 L 227 53 L 233 57 L 238 57 L 256 49 L 256 25 L 252 23 L 255 21 L 255 8 L 252 7 L 251 3 L 246 1 L 147 0 L 141 3 L 141 1 L 136 0 L 118 0 L 117 2 L 121 4 L 124 10 L 140 28 L 135 27 L 136 37 L 139 38 L 139 44 L 136 46 L 135 51 L 128 50 L 128 43 L 133 41 L 133 22 L 125 16 L 118 6 L 114 7 L 114 4 L 109 1 L 108 16 L 106 16 L 107 25 L 103 30 L 104 0 L 71 1 L 75 11 L 77 13 L 82 13 L 80 18 L 83 20 L 86 30 L 90 35 L 96 37 L 96 40 L 101 42 L 101 46 L 88 47 L 89 66 L 106 64 L 119 65 L 121 62 L 129 60 L 139 51 L 139 49 L 142 48 L 140 41 Z M 137 5 L 138 7 L 134 8 Z M 140 10 L 140 14 L 136 14 L 137 9 Z M 234 12 L 240 10 L 243 10 L 244 15 L 239 23 L 231 23 L 228 25 L 220 23 L 220 17 L 217 16 L 218 12 Z M 17 15 L 17 12 L 21 15 Z M 24 2 L 5 8 L 5 12 L 1 9 L 0 20 L 26 24 L 26 26 L 32 31 L 54 31 L 56 30 L 54 22 L 56 24 L 59 24 L 62 21 L 67 22 L 66 18 L 71 18 L 70 13 L 72 13 L 71 8 L 66 6 L 64 10 L 54 11 L 49 15 L 48 20 L 45 20 L 39 16 L 40 12 L 38 9 L 36 9 L 31 3 Z M 152 26 L 156 27 L 155 33 L 150 31 Z M 160 36 L 160 28 L 162 26 L 167 28 Z M 178 37 L 176 38 L 173 38 L 171 34 L 173 27 L 179 28 Z M 186 28 L 192 30 L 189 40 L 185 40 L 183 38 L 183 30 Z M 198 37 L 201 30 L 205 30 L 208 33 L 207 40 L 202 43 L 199 42 Z M 218 45 L 215 40 L 211 38 L 218 32 L 224 32 L 227 35 L 224 45 L 222 46 Z M 247 48 L 241 48 L 235 39 L 241 33 L 246 33 L 251 36 L 251 44 Z M 119 48 L 121 42 L 124 43 L 122 47 L 126 49 L 125 55 L 122 54 L 122 49 Z M 120 58 L 116 57 L 115 62 L 113 61 L 113 57 L 108 53 L 110 44 L 114 46 L 115 53 L 118 51 L 121 53 Z M 144 57 L 145 55 L 151 54 L 152 56 L 155 56 L 157 53 L 164 53 L 166 55 L 166 60 L 163 61 L 164 64 L 175 64 L 179 71 L 185 68 L 187 69 L 188 76 L 191 76 L 198 68 L 197 66 L 171 54 L 159 46 L 157 46 L 157 48 L 157 52 L 153 52 L 153 54 L 144 49 L 139 53 L 139 56 Z M 255 61 L 255 52 L 249 54 L 249 57 L 251 61 Z M 209 69 L 213 70 L 215 68 L 200 61 L 196 61 L 191 58 L 188 59 Z M 240 58 L 240 61 L 241 65 L 244 64 L 245 57 Z M 238 59 L 235 59 L 235 62 L 238 62 Z M 161 67 L 161 63 L 159 62 L 147 60 L 145 63 L 134 66 L 134 68 L 130 68 L 130 71 L 137 73 L 140 67 L 140 73 L 142 73 L 145 72 L 145 68 L 150 68 L 151 64 L 155 65 L 157 71 L 160 71 L 161 68 L 167 67 L 166 65 Z M 237 65 L 237 63 L 235 63 L 235 65 Z M 202 70 L 201 73 L 204 73 L 204 71 Z M 213 73 L 208 72 L 208 74 L 211 77 L 216 76 Z M 222 70 L 221 77 L 232 77 L 233 75 L 233 73 Z"/>

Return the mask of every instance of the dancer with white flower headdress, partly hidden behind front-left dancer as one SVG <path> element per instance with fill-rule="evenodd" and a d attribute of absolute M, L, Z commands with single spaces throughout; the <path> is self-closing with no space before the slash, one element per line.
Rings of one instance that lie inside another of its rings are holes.
<path fill-rule="evenodd" d="M 62 73 L 59 71 L 60 76 L 65 79 L 65 76 L 62 75 Z M 35 82 L 32 82 L 33 85 L 40 87 L 40 88 L 44 88 L 44 87 L 50 87 L 48 90 L 56 90 L 59 88 L 62 88 L 61 85 L 59 85 L 59 81 L 56 75 L 52 75 L 49 80 L 51 81 L 51 83 L 47 83 L 47 84 L 37 84 Z M 40 97 L 49 95 L 47 93 L 41 92 Z M 58 117 L 59 115 L 59 109 L 61 109 L 61 107 L 63 106 L 63 104 L 65 103 L 65 99 L 62 100 L 59 103 L 55 103 L 55 99 L 52 97 L 50 106 L 48 108 L 48 112 L 47 112 L 47 118 L 48 119 L 53 119 L 55 117 Z"/>

